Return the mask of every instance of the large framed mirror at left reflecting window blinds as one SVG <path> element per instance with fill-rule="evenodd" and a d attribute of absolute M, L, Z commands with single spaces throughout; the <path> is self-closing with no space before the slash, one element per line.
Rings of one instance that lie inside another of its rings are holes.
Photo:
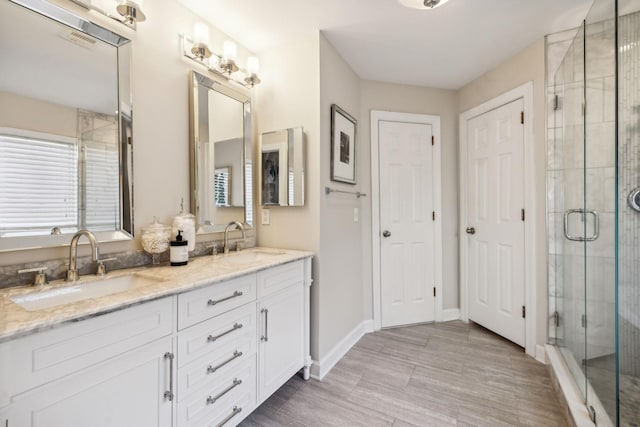
<path fill-rule="evenodd" d="M 0 251 L 131 239 L 130 45 L 44 0 L 0 2 Z"/>

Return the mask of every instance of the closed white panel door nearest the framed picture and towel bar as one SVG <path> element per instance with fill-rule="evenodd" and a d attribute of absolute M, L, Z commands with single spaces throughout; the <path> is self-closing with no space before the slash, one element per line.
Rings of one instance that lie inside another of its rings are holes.
<path fill-rule="evenodd" d="M 433 129 L 379 121 L 382 327 L 435 319 Z"/>

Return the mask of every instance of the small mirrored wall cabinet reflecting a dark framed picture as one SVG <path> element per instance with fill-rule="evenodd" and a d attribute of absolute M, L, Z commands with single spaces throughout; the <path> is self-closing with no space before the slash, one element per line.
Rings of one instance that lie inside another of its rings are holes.
<path fill-rule="evenodd" d="M 260 140 L 263 206 L 304 206 L 302 127 L 263 133 Z"/>

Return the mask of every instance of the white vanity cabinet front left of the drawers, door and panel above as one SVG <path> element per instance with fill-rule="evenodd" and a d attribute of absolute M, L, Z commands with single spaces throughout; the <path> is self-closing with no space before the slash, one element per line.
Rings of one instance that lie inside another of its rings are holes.
<path fill-rule="evenodd" d="M 164 298 L 1 344 L 5 423 L 170 427 L 173 307 Z"/>

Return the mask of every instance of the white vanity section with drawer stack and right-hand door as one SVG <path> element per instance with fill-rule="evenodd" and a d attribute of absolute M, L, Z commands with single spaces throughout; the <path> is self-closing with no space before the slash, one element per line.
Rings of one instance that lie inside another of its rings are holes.
<path fill-rule="evenodd" d="M 308 374 L 310 265 L 178 296 L 177 427 L 236 425 L 297 371 Z"/>

